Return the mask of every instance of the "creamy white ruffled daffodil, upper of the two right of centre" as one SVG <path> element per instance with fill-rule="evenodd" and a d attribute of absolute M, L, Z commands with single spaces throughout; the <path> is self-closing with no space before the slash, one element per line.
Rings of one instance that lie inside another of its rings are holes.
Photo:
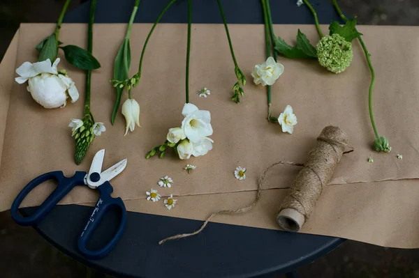
<path fill-rule="evenodd" d="M 272 57 L 269 57 L 264 63 L 255 65 L 251 72 L 251 76 L 256 85 L 262 84 L 262 86 L 271 86 L 283 72 L 284 65 L 277 63 Z"/>

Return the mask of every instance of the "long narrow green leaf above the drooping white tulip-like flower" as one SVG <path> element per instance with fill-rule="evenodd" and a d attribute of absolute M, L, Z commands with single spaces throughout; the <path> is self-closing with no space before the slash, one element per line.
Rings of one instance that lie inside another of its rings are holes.
<path fill-rule="evenodd" d="M 131 47 L 129 46 L 129 38 L 125 38 L 119 51 L 117 57 L 115 58 L 114 63 L 114 79 L 119 81 L 124 81 L 129 78 L 129 68 L 131 66 Z M 117 98 L 115 100 L 115 106 L 112 110 L 112 117 L 110 122 L 112 125 L 115 123 L 115 118 L 119 110 L 119 105 L 121 103 L 122 93 L 124 88 L 117 87 Z"/>

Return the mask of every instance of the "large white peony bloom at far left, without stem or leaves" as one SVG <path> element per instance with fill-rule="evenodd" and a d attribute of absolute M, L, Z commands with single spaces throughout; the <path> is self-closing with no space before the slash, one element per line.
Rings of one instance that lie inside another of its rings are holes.
<path fill-rule="evenodd" d="M 57 58 L 53 64 L 50 59 L 38 63 L 24 62 L 16 73 L 15 81 L 19 84 L 28 82 L 27 90 L 32 98 L 47 109 L 65 107 L 68 96 L 71 102 L 79 98 L 79 93 L 73 80 L 68 77 L 65 70 L 59 72 Z"/>

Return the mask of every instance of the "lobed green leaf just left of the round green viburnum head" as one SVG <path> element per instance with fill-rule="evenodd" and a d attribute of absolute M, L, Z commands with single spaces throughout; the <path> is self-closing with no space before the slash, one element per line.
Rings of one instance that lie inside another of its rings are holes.
<path fill-rule="evenodd" d="M 288 45 L 278 37 L 275 39 L 275 50 L 289 59 L 317 58 L 316 48 L 310 45 L 309 40 L 300 30 L 297 33 L 297 45 L 295 47 Z"/>

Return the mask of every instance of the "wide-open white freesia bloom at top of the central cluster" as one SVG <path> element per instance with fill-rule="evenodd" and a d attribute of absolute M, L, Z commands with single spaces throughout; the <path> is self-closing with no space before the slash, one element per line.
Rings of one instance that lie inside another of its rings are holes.
<path fill-rule="evenodd" d="M 186 103 L 182 114 L 185 117 L 182 121 L 182 130 L 189 141 L 199 143 L 203 137 L 212 135 L 210 111 L 199 110 L 195 105 Z"/>

